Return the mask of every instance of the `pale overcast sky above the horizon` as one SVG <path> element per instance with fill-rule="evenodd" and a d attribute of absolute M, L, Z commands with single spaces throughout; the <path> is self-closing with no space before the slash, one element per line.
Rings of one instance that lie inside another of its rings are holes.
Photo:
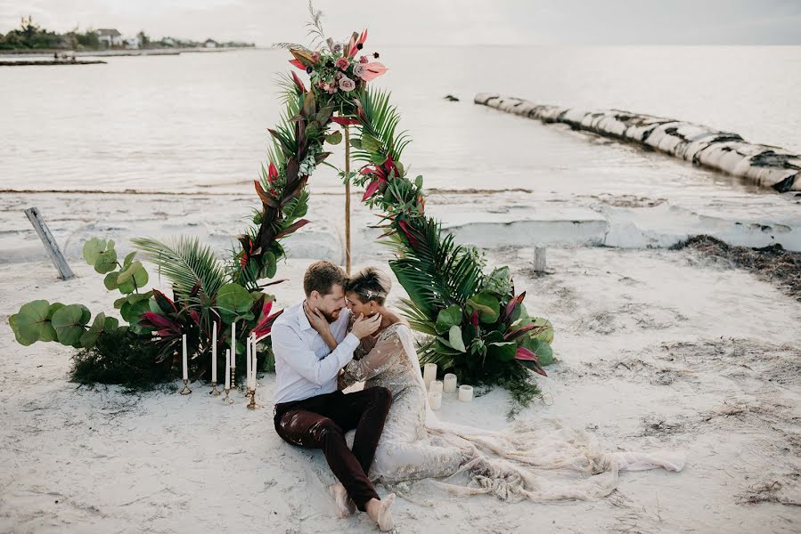
<path fill-rule="evenodd" d="M 372 45 L 801 44 L 801 0 L 316 0 L 330 36 Z M 306 43 L 305 0 L 0 0 L 0 33 L 45 28 L 124 36 Z"/>

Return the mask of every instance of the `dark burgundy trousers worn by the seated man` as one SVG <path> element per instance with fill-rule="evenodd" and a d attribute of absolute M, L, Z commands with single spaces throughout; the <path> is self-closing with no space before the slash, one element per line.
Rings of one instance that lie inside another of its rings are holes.
<path fill-rule="evenodd" d="M 379 498 L 367 474 L 391 404 L 392 392 L 385 387 L 282 402 L 275 405 L 275 432 L 292 445 L 323 449 L 334 476 L 364 512 L 370 499 Z M 351 450 L 345 433 L 353 428 L 356 437 Z"/>

